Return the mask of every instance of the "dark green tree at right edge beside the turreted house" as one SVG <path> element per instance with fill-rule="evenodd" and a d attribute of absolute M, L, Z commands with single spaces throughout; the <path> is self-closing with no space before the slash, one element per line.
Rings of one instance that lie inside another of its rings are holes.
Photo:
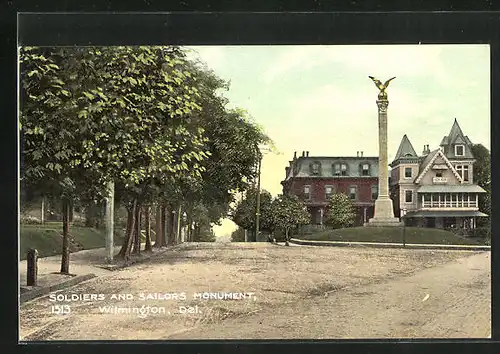
<path fill-rule="evenodd" d="M 472 154 L 476 160 L 473 181 L 486 191 L 480 194 L 479 210 L 488 214 L 487 218 L 480 218 L 478 224 L 488 225 L 491 215 L 491 154 L 482 144 L 473 144 Z"/>

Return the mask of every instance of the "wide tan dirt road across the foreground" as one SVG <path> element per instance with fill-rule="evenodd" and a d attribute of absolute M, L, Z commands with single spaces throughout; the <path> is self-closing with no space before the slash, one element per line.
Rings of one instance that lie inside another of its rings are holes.
<path fill-rule="evenodd" d="M 489 252 L 198 243 L 99 275 L 56 294 L 102 294 L 103 300 L 59 302 L 46 296 L 23 304 L 21 340 L 486 338 L 490 333 Z M 204 292 L 254 295 L 193 298 Z M 141 299 L 153 293 L 164 298 Z M 186 299 L 165 299 L 167 293 L 185 293 Z M 129 299 L 111 299 L 112 294 Z M 55 305 L 68 305 L 70 313 L 51 313 Z M 103 313 L 105 306 L 132 313 Z M 143 306 L 149 313 L 134 312 Z M 194 312 L 180 313 L 188 309 Z"/>

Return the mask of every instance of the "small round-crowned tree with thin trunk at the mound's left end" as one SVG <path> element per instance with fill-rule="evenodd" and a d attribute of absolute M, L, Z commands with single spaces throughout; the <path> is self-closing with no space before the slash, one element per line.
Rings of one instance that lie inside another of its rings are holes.
<path fill-rule="evenodd" d="M 310 215 L 304 204 L 295 195 L 278 195 L 272 204 L 273 223 L 285 233 L 285 245 L 289 246 L 291 229 L 306 225 Z"/>

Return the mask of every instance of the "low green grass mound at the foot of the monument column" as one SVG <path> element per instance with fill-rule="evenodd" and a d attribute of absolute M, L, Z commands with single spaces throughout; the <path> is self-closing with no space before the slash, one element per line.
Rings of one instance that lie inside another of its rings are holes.
<path fill-rule="evenodd" d="M 353 227 L 326 230 L 310 235 L 297 235 L 298 239 L 314 241 L 402 243 L 403 227 Z M 477 239 L 466 239 L 446 230 L 406 227 L 406 243 L 442 245 L 482 245 Z"/>

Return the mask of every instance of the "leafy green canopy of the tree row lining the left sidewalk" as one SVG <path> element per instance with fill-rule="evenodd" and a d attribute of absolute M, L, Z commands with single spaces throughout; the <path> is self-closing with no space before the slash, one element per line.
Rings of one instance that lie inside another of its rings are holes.
<path fill-rule="evenodd" d="M 257 147 L 273 146 L 179 47 L 23 47 L 20 62 L 23 190 L 35 194 L 92 208 L 113 180 L 117 207 L 182 205 L 211 239 L 255 180 Z"/>

